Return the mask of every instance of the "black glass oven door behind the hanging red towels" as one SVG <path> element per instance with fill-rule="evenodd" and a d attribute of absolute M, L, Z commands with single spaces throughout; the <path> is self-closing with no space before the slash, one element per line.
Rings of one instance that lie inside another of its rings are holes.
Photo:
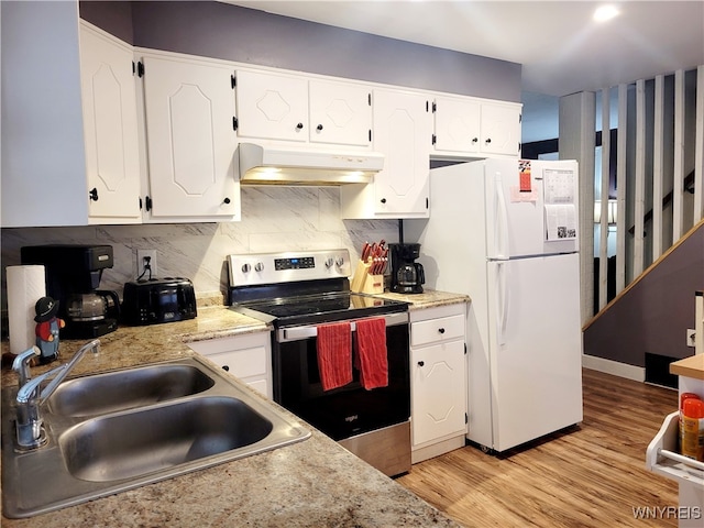
<path fill-rule="evenodd" d="M 353 369 L 352 383 L 323 391 L 318 371 L 317 327 L 279 328 L 273 351 L 274 400 L 334 440 L 410 417 L 408 314 L 386 314 L 388 386 L 366 391 Z M 354 321 L 352 331 L 354 332 Z"/>

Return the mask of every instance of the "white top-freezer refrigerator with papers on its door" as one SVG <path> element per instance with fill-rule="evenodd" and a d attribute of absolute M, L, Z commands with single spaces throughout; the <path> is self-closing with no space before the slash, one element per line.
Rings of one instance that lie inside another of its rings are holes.
<path fill-rule="evenodd" d="M 406 220 L 426 285 L 468 294 L 466 438 L 496 452 L 582 421 L 578 164 L 485 160 L 430 172 Z"/>

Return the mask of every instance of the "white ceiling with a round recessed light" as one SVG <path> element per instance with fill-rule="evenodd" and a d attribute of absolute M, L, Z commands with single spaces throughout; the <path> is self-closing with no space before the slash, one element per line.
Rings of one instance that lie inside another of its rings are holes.
<path fill-rule="evenodd" d="M 375 35 L 519 63 L 522 90 L 563 96 L 704 64 L 704 1 L 228 0 Z"/>

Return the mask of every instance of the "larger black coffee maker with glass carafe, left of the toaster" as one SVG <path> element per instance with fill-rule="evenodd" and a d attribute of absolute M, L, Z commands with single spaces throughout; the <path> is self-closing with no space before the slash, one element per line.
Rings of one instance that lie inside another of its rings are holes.
<path fill-rule="evenodd" d="M 111 245 L 48 244 L 21 250 L 22 264 L 46 270 L 46 295 L 58 300 L 57 317 L 66 321 L 59 336 L 91 339 L 118 328 L 117 292 L 98 289 L 102 271 L 112 267 Z"/>

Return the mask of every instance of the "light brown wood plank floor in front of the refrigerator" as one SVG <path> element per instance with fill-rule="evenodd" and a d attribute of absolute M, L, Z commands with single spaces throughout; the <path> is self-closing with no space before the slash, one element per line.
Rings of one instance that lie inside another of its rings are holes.
<path fill-rule="evenodd" d="M 397 482 L 466 527 L 676 527 L 672 510 L 634 514 L 678 506 L 676 483 L 645 468 L 676 391 L 591 370 L 583 378 L 581 425 L 499 455 L 468 446 Z"/>

